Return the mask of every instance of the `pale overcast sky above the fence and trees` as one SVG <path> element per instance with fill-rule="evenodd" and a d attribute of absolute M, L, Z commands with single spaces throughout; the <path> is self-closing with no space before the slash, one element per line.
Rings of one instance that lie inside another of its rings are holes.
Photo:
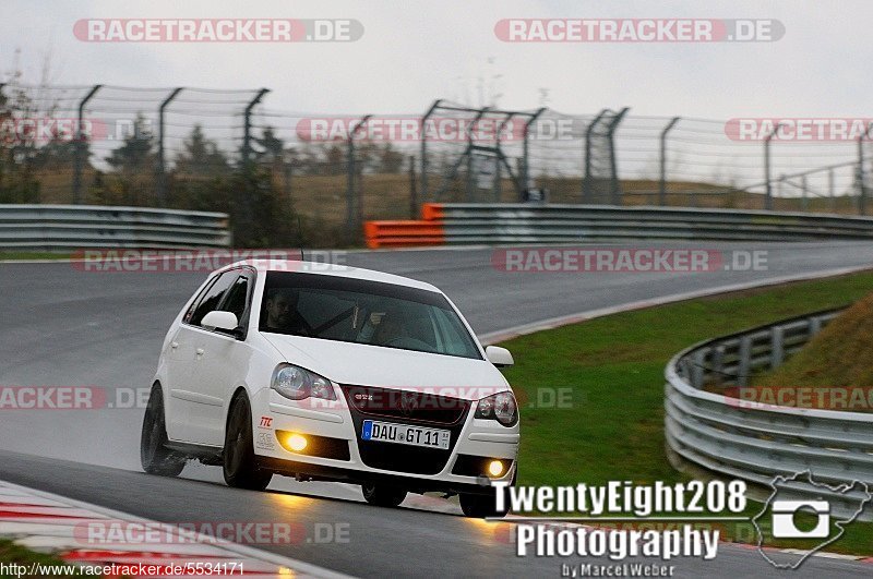
<path fill-rule="evenodd" d="M 81 19 L 355 19 L 354 43 L 100 44 Z M 704 118 L 869 113 L 869 1 L 258 1 L 3 2 L 0 67 L 21 50 L 26 81 L 133 86 L 270 87 L 265 106 L 313 112 L 421 111 L 436 97 L 566 112 L 630 106 Z M 776 19 L 773 43 L 514 44 L 513 17 Z M 480 88 L 481 87 L 481 88 Z"/>

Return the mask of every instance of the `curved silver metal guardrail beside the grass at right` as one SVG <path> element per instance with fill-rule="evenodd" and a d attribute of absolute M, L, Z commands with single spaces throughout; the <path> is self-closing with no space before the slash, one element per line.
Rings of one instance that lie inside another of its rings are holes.
<path fill-rule="evenodd" d="M 667 365 L 665 386 L 665 429 L 673 465 L 764 486 L 778 474 L 810 470 L 817 482 L 862 481 L 873 488 L 873 414 L 779 407 L 717 394 L 742 388 L 750 375 L 778 366 L 838 313 L 818 312 L 715 338 L 677 354 Z M 832 510 L 842 515 L 853 514 L 864 498 L 800 481 L 785 490 L 794 498 L 825 496 Z"/>

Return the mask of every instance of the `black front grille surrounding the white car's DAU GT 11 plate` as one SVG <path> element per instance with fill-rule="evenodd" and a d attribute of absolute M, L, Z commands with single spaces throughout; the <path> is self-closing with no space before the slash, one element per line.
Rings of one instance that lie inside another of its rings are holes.
<path fill-rule="evenodd" d="M 368 467 L 411 474 L 436 474 L 445 468 L 457 444 L 470 402 L 421 393 L 342 386 L 355 424 L 358 451 Z M 404 396 L 406 399 L 404 400 Z M 410 403 L 410 400 L 414 402 Z M 366 419 L 421 424 L 450 431 L 449 448 L 426 448 L 361 439 Z"/>

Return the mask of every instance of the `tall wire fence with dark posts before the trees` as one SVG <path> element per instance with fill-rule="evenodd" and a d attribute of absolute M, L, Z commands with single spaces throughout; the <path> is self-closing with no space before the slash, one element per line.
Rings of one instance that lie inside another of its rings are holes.
<path fill-rule="evenodd" d="M 799 123 L 627 108 L 436 100 L 410 113 L 336 114 L 268 105 L 263 88 L 0 84 L 0 203 L 258 219 L 234 193 L 242 174 L 241 189 L 268 197 L 268 213 L 287 208 L 280 218 L 297 222 L 282 227 L 311 243 L 357 243 L 362 221 L 415 218 L 431 201 L 869 210 L 869 125 L 857 123 L 840 138 L 799 138 Z"/>

